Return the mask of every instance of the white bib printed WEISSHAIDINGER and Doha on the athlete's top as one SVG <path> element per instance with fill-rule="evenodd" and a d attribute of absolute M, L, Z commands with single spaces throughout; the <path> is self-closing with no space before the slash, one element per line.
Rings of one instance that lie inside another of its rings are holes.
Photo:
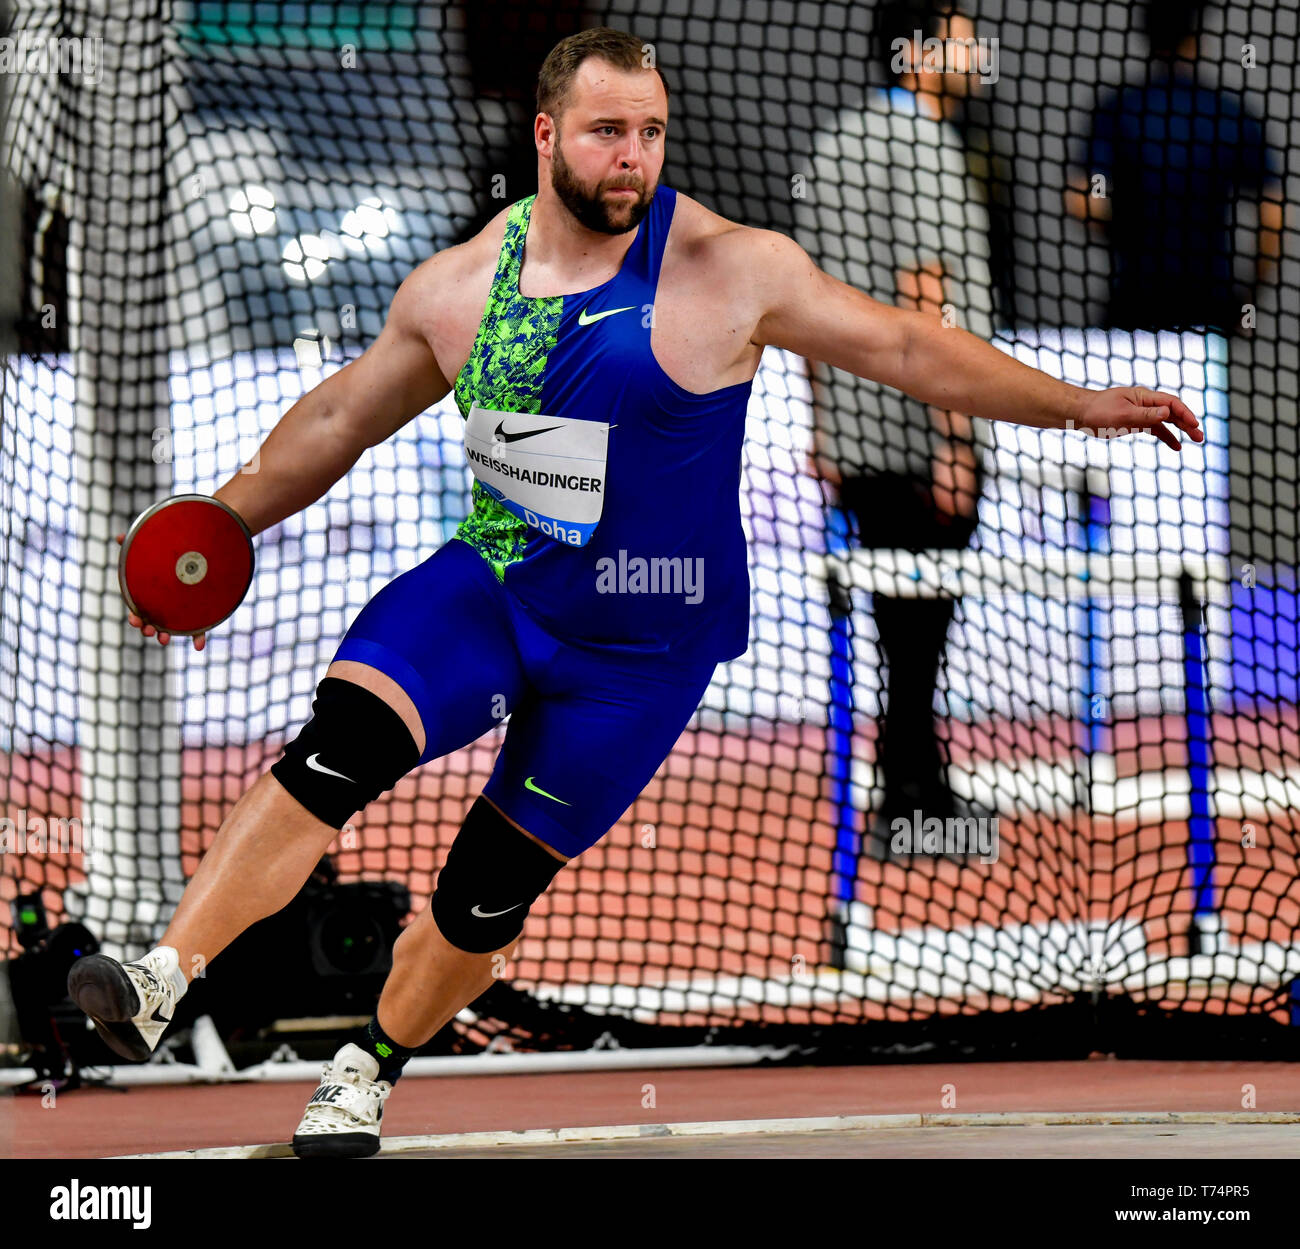
<path fill-rule="evenodd" d="M 610 426 L 469 406 L 465 457 L 484 489 L 521 521 L 586 546 L 604 507 Z"/>

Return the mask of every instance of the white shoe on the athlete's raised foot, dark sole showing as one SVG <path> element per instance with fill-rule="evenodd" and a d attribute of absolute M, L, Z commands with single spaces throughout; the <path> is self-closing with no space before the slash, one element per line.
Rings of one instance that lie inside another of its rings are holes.
<path fill-rule="evenodd" d="M 87 954 L 68 972 L 68 996 L 90 1015 L 108 1048 L 133 1062 L 144 1062 L 157 1049 L 188 986 L 169 945 L 135 963 Z"/>

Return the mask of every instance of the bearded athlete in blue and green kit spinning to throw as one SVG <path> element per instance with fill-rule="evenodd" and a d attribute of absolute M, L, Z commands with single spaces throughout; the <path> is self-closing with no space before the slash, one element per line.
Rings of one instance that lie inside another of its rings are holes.
<path fill-rule="evenodd" d="M 312 1094 L 300 1155 L 380 1148 L 403 1063 L 490 988 L 529 907 L 650 781 L 715 665 L 744 652 L 741 438 L 764 347 L 936 408 L 1149 430 L 1175 450 L 1174 429 L 1202 439 L 1173 395 L 1056 381 L 662 186 L 668 88 L 644 52 L 608 29 L 551 51 L 537 194 L 421 264 L 369 350 L 216 495 L 256 534 L 448 393 L 465 418 L 473 509 L 456 537 L 363 608 L 313 717 L 235 803 L 160 945 L 73 967 L 73 997 L 118 1053 L 153 1051 L 190 980 L 298 893 L 356 811 L 510 712 L 374 1019 Z"/>

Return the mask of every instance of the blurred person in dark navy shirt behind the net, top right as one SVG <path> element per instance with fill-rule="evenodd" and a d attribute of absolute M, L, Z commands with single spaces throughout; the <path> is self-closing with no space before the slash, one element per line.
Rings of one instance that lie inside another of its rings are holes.
<path fill-rule="evenodd" d="M 1235 91 L 1196 73 L 1204 3 L 1149 0 L 1145 81 L 1105 92 L 1066 208 L 1110 248 L 1106 325 L 1242 329 L 1280 251 L 1280 161 Z M 1253 272 L 1234 274 L 1238 203 L 1258 204 Z"/>

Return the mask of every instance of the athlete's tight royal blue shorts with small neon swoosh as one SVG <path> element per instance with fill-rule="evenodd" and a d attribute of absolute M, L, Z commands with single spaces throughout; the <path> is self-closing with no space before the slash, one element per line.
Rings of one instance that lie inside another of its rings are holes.
<path fill-rule="evenodd" d="M 559 639 L 458 538 L 380 590 L 334 659 L 378 668 L 406 690 L 424 723 L 420 763 L 510 715 L 484 794 L 567 858 L 632 806 L 716 667 Z"/>

